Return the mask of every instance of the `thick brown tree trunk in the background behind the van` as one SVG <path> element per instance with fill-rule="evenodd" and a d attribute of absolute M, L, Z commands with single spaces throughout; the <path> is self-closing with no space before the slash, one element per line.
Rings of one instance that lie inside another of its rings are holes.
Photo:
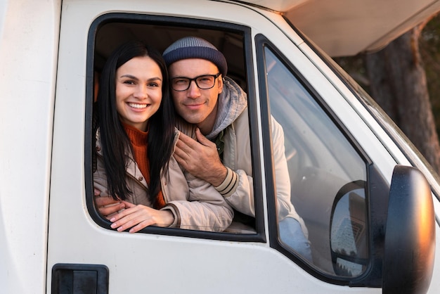
<path fill-rule="evenodd" d="M 420 27 L 365 56 L 373 98 L 440 172 L 440 146 L 420 59 Z"/>

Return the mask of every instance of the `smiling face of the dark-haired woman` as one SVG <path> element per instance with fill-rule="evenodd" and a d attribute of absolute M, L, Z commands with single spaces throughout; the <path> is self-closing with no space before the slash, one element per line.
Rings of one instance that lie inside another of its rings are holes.
<path fill-rule="evenodd" d="M 145 132 L 162 101 L 162 72 L 148 56 L 131 58 L 116 71 L 116 109 L 125 124 Z"/>

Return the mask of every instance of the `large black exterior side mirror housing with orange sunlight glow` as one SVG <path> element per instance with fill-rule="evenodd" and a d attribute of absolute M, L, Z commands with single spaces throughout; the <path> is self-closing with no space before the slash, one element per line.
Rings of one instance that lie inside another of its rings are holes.
<path fill-rule="evenodd" d="M 397 165 L 389 192 L 382 293 L 426 293 L 434 253 L 435 216 L 429 184 L 414 167 Z"/>

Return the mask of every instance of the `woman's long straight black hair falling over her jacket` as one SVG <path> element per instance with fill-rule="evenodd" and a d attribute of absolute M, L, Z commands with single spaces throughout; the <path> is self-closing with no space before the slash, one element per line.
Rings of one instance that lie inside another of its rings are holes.
<path fill-rule="evenodd" d="M 131 41 L 116 49 L 106 61 L 101 72 L 98 90 L 98 127 L 101 132 L 104 167 L 107 174 L 108 193 L 125 200 L 132 193 L 125 180 L 127 162 L 125 151 L 131 150 L 129 137 L 119 120 L 116 109 L 116 71 L 135 57 L 148 56 L 159 65 L 162 72 L 162 101 L 157 112 L 148 120 L 148 161 L 150 162 L 149 198 L 152 203 L 160 191 L 160 177 L 167 171 L 173 151 L 174 106 L 169 96 L 168 72 L 159 51 L 138 41 Z M 138 159 L 139 160 L 139 159 Z"/>

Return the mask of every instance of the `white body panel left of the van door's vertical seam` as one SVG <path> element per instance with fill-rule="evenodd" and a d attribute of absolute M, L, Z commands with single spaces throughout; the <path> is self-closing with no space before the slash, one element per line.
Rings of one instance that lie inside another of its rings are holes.
<path fill-rule="evenodd" d="M 0 280 L 5 293 L 45 289 L 60 8 L 60 1 L 0 1 Z"/>

